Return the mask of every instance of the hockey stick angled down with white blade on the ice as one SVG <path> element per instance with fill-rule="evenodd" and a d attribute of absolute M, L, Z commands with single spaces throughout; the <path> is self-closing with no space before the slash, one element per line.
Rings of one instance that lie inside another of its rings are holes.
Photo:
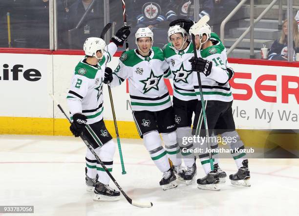
<path fill-rule="evenodd" d="M 58 108 L 60 109 L 60 111 L 64 114 L 65 118 L 67 118 L 67 120 L 69 121 L 69 123 L 72 123 L 71 120 L 70 120 L 70 118 L 68 118 L 68 116 L 65 114 L 63 108 L 60 106 L 59 102 L 54 98 L 54 96 L 52 94 L 49 94 L 49 95 L 53 98 L 53 101 L 56 103 L 56 105 L 58 106 Z M 89 131 L 88 131 L 88 133 L 89 133 Z M 87 148 L 91 151 L 91 153 L 94 155 L 94 157 L 96 157 L 98 163 L 103 167 L 103 169 L 108 174 L 108 176 L 111 178 L 111 180 L 114 182 L 114 184 L 116 185 L 116 187 L 125 196 L 125 198 L 128 200 L 128 202 L 131 205 L 134 205 L 134 206 L 137 206 L 137 207 L 140 207 L 140 208 L 150 208 L 150 207 L 152 207 L 152 203 L 151 202 L 139 202 L 139 201 L 136 201 L 136 200 L 132 200 L 130 197 L 128 197 L 128 195 L 123 191 L 123 189 L 121 188 L 121 186 L 119 186 L 119 184 L 117 183 L 117 181 L 115 180 L 115 178 L 108 171 L 108 169 L 105 166 L 105 164 L 102 162 L 102 160 L 95 153 L 94 149 L 89 144 L 89 141 L 83 136 L 83 133 L 80 135 L 80 138 L 82 138 L 82 140 L 85 142 L 85 145 L 87 146 Z"/>

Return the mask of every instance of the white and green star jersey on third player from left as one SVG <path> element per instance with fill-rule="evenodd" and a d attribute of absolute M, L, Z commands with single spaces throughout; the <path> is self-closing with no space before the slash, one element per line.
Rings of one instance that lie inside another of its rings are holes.
<path fill-rule="evenodd" d="M 189 43 L 185 50 L 177 51 L 171 47 L 171 43 L 168 43 L 162 50 L 171 69 L 170 76 L 165 78 L 173 79 L 173 97 L 185 101 L 197 99 L 192 80 L 193 71 L 189 62 L 194 56 L 193 44 Z"/>

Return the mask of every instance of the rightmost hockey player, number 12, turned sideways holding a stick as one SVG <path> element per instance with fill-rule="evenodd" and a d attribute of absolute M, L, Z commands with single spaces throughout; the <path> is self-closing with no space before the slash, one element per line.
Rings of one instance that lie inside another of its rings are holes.
<path fill-rule="evenodd" d="M 202 91 L 206 107 L 207 126 L 214 135 L 221 137 L 235 137 L 230 147 L 235 149 L 244 149 L 244 144 L 235 131 L 235 122 L 232 113 L 233 95 L 230 89 L 229 80 L 234 76 L 234 71 L 229 67 L 227 54 L 224 45 L 219 37 L 211 32 L 208 24 L 200 26 L 194 24 L 190 29 L 190 34 L 195 35 L 196 50 L 199 58 L 192 57 L 192 70 L 200 72 Z M 198 79 L 194 90 L 199 96 Z M 201 107 L 201 103 L 200 109 Z M 201 115 L 195 115 L 193 128 L 195 134 L 205 136 L 203 129 L 204 121 Z M 248 169 L 248 159 L 245 153 L 234 152 L 233 157 L 237 165 L 237 173 L 230 175 L 233 184 L 250 186 L 250 172 Z M 200 154 L 201 164 L 204 167 L 206 177 L 197 179 L 198 188 L 208 190 L 220 190 L 219 168 L 214 164 L 212 171 L 209 164 L 209 154 Z"/>

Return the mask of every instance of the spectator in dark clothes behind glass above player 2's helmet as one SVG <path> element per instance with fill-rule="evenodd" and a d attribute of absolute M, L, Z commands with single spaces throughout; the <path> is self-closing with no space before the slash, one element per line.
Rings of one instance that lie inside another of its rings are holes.
<path fill-rule="evenodd" d="M 91 3 L 93 5 L 83 19 L 83 22 L 75 29 Z M 82 49 L 82 44 L 87 38 L 99 37 L 104 27 L 104 15 L 104 0 L 75 1 L 70 6 L 67 17 L 68 48 Z"/>

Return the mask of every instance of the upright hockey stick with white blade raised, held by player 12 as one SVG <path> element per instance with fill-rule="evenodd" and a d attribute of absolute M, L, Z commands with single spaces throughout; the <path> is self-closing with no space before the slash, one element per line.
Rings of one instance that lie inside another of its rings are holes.
<path fill-rule="evenodd" d="M 203 23 L 207 23 L 209 20 L 210 20 L 210 18 L 208 16 L 203 16 L 197 23 L 194 24 L 193 29 L 200 28 Z M 196 45 L 195 45 L 195 35 L 193 33 L 192 33 L 192 43 L 193 43 L 194 57 L 197 58 L 197 50 L 196 50 Z M 201 48 L 201 44 L 202 43 L 200 43 L 199 51 L 200 51 L 200 48 Z M 208 124 L 207 124 L 205 102 L 204 102 L 203 93 L 202 93 L 201 79 L 200 79 L 199 72 L 196 71 L 196 74 L 197 74 L 197 79 L 198 79 L 199 95 L 200 95 L 200 102 L 201 102 L 201 107 L 202 107 L 203 119 L 204 119 L 204 124 L 205 124 L 205 129 L 206 129 L 206 137 L 208 139 L 209 138 L 209 130 L 208 130 Z M 198 118 L 198 121 L 199 121 L 199 118 Z M 207 140 L 207 145 L 208 145 L 208 148 L 209 148 L 208 140 Z M 213 171 L 214 170 L 214 165 L 213 165 L 213 158 L 212 158 L 212 153 L 211 152 L 209 152 L 209 158 L 210 158 L 211 170 Z"/>

